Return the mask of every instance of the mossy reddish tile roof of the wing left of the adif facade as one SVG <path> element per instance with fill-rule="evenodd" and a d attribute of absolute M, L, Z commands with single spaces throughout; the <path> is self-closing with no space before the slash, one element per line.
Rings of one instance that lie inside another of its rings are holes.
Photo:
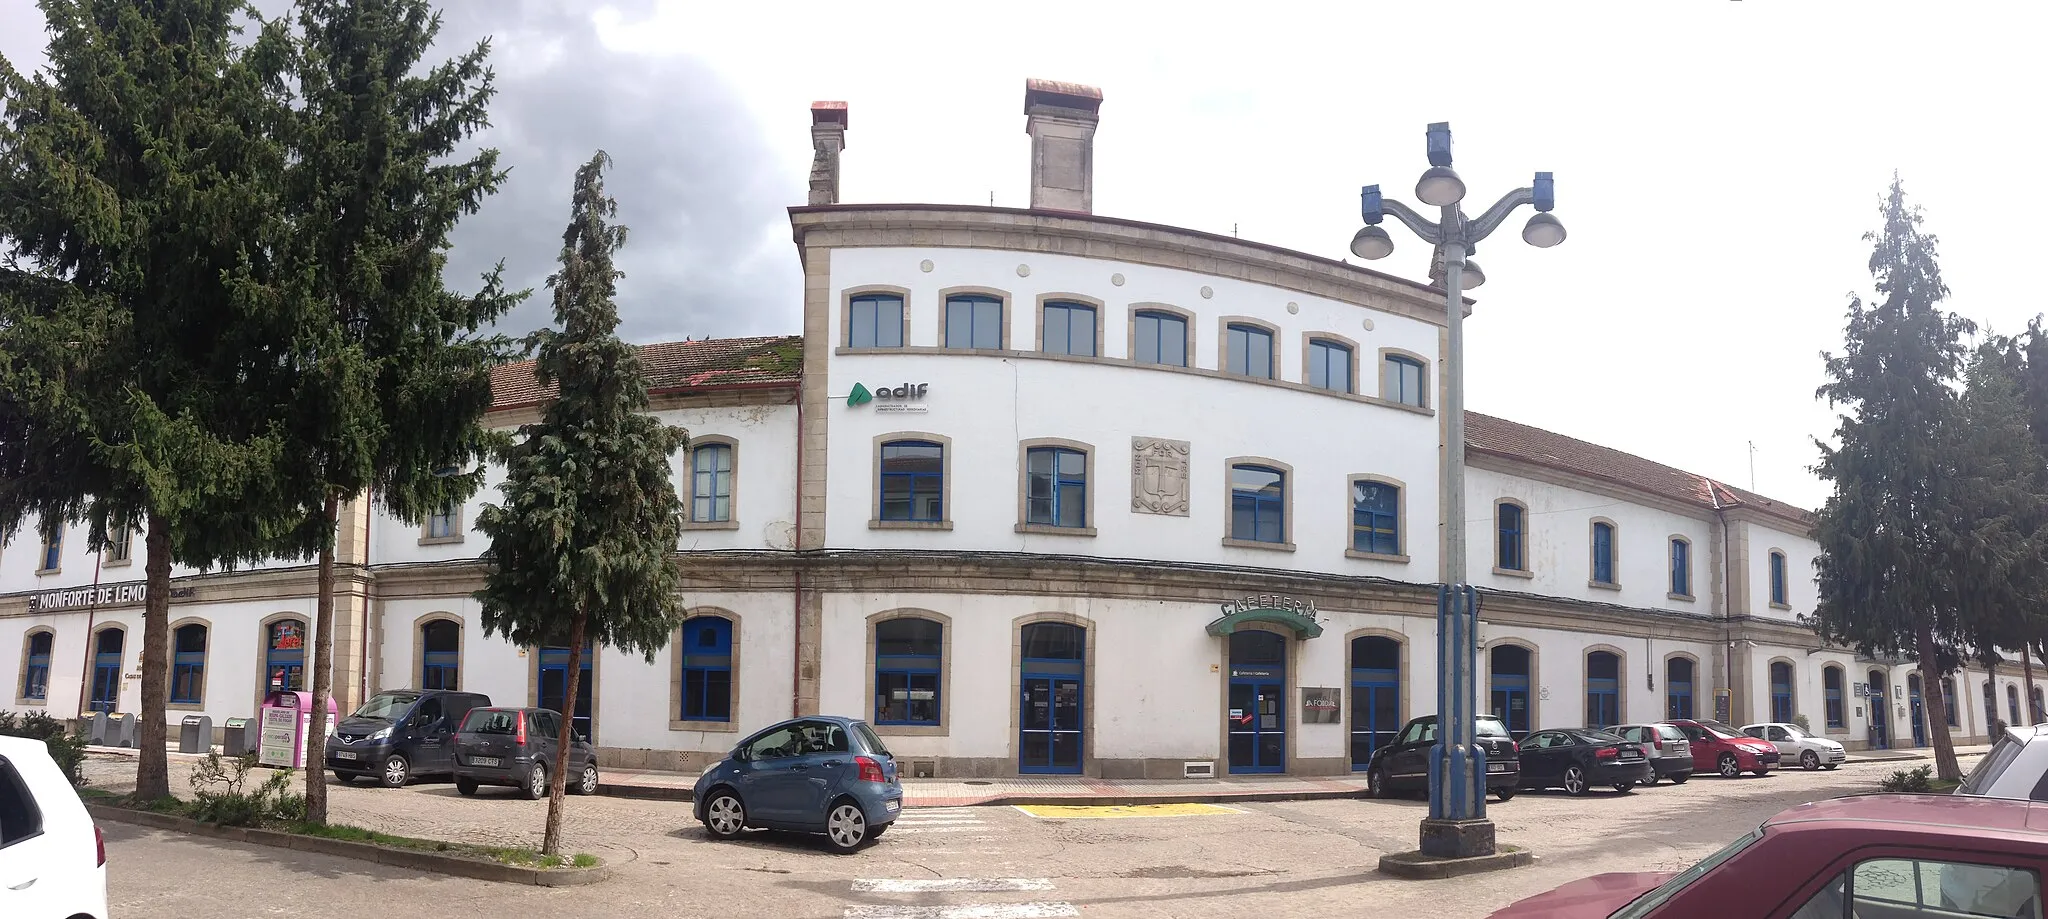
<path fill-rule="evenodd" d="M 803 370 L 803 338 L 707 338 L 639 348 L 649 393 L 795 385 Z M 535 405 L 553 393 L 532 379 L 532 360 L 492 373 L 492 409 Z"/>

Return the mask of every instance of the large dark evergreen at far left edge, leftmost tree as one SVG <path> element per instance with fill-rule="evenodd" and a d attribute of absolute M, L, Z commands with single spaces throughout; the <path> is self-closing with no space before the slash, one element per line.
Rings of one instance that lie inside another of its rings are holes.
<path fill-rule="evenodd" d="M 170 567 L 303 555 L 274 393 L 281 100 L 242 0 L 41 0 L 49 68 L 0 59 L 0 534 L 141 526 L 137 794 L 164 757 Z"/>

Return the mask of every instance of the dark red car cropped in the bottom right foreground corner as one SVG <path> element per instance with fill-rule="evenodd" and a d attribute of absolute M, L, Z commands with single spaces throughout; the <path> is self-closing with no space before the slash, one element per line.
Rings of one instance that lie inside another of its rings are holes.
<path fill-rule="evenodd" d="M 2038 917 L 2048 804 L 1864 794 L 1800 804 L 1679 874 L 1599 874 L 1493 919 Z"/>

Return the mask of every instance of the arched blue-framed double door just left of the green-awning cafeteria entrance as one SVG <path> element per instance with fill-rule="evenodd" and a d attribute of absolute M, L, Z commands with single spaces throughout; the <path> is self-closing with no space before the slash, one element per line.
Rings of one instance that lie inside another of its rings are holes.
<path fill-rule="evenodd" d="M 1024 626 L 1018 673 L 1018 772 L 1081 774 L 1087 630 L 1067 622 Z"/>

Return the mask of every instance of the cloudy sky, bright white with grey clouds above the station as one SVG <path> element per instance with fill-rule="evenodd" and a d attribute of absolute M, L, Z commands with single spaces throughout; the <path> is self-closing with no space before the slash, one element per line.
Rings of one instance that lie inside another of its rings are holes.
<path fill-rule="evenodd" d="M 803 203 L 811 100 L 852 106 L 842 201 L 1024 207 L 1024 78 L 1104 90 L 1096 213 L 1331 258 L 1360 184 L 1411 199 L 1430 121 L 1456 131 L 1473 211 L 1556 172 L 1565 246 L 1522 246 L 1520 219 L 1481 246 L 1470 407 L 1735 485 L 1755 444 L 1755 487 L 1806 506 L 1833 428 L 1819 354 L 1870 289 L 1862 233 L 1894 170 L 1952 309 L 1997 332 L 2048 309 L 2032 285 L 1997 293 L 2048 213 L 2019 172 L 2044 139 L 2048 4 L 442 6 L 451 49 L 496 41 L 485 141 L 512 166 L 455 270 L 506 258 L 537 285 L 571 172 L 604 147 L 641 342 L 797 330 L 782 209 Z M 41 59 L 31 0 L 0 0 L 0 53 Z M 1380 268 L 1423 276 L 1401 233 Z M 508 325 L 545 319 L 537 297 Z"/>

